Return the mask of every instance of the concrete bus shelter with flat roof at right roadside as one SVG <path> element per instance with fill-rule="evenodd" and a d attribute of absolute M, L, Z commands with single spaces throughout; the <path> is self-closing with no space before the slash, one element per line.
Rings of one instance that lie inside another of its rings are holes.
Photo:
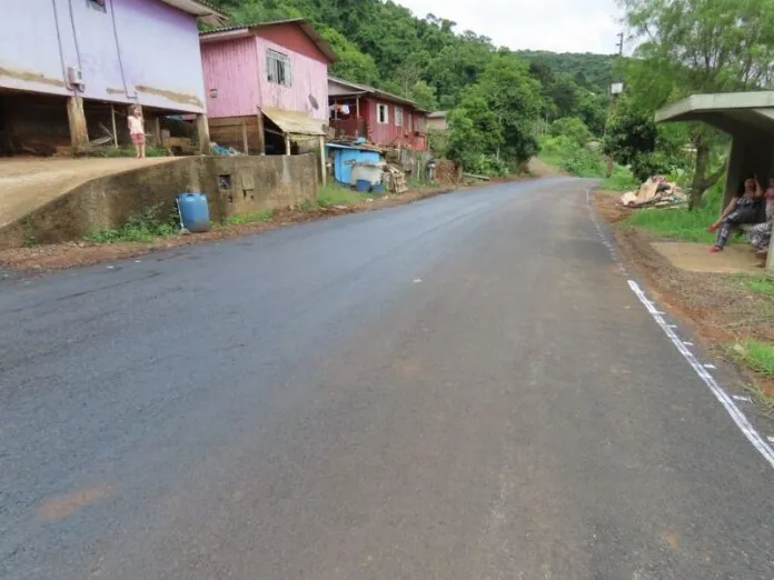
<path fill-rule="evenodd" d="M 656 122 L 701 121 L 732 137 L 726 171 L 726 204 L 740 181 L 774 177 L 774 91 L 693 94 L 656 112 Z M 774 269 L 772 251 L 768 269 Z"/>

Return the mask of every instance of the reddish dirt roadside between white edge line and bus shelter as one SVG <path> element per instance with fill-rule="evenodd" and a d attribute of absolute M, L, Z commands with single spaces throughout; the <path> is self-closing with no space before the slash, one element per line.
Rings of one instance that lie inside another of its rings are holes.
<path fill-rule="evenodd" d="M 617 206 L 619 197 L 621 193 L 604 191 L 595 196 L 596 209 L 608 223 L 621 222 L 636 211 Z M 613 228 L 613 232 L 627 267 L 646 280 L 658 302 L 687 320 L 704 346 L 716 354 L 728 359 L 728 347 L 747 338 L 774 342 L 774 299 L 751 291 L 744 283 L 744 274 L 740 276 L 738 272 L 701 271 L 699 262 L 706 261 L 705 256 L 716 256 L 710 254 L 705 244 L 677 244 L 698 247 L 687 252 L 688 257 L 696 253 L 695 260 L 686 262 L 689 269 L 682 269 L 656 249 L 659 246 L 663 249 L 664 243 L 669 247 L 672 242 L 619 223 Z M 738 251 L 743 252 L 744 249 L 740 248 Z M 752 254 L 750 251 L 747 253 Z M 725 260 L 731 258 L 724 257 Z M 745 260 L 748 262 L 750 257 L 745 257 Z M 743 267 L 741 270 L 745 273 L 762 272 L 754 267 Z M 756 382 L 767 394 L 774 396 L 774 381 L 757 377 Z"/>

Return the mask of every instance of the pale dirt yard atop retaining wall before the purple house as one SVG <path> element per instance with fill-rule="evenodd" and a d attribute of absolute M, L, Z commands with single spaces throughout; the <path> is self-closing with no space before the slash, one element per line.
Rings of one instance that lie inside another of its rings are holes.
<path fill-rule="evenodd" d="M 0 228 L 91 179 L 175 159 L 0 159 Z"/>

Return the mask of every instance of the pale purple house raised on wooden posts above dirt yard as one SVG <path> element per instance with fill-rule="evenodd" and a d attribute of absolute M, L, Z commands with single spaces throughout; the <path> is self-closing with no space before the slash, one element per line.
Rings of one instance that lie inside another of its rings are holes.
<path fill-rule="evenodd" d="M 196 114 L 207 130 L 197 21 L 204 0 L 10 0 L 0 21 L 0 153 L 53 152 L 126 137 L 129 106 L 146 130 Z M 209 139 L 200 142 L 208 143 Z"/>

